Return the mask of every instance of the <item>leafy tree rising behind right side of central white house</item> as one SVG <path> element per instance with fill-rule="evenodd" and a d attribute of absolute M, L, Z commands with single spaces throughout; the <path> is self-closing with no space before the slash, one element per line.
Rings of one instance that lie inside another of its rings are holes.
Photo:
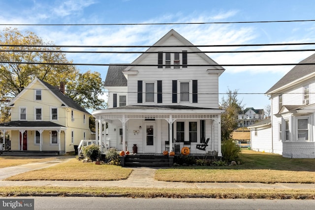
<path fill-rule="evenodd" d="M 237 126 L 238 113 L 242 110 L 242 101 L 237 99 L 237 90 L 226 92 L 227 98 L 221 99 L 220 108 L 225 110 L 221 115 L 221 139 L 231 138 L 233 129 Z"/>

